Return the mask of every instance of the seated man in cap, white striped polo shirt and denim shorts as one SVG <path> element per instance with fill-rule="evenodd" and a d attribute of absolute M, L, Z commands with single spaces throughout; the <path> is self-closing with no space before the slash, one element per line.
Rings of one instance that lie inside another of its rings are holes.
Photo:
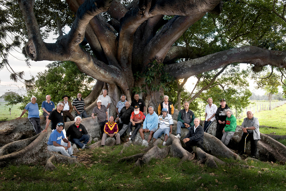
<path fill-rule="evenodd" d="M 155 142 L 156 139 L 161 137 L 163 134 L 165 135 L 164 142 L 162 144 L 163 146 L 166 146 L 166 141 L 169 135 L 172 134 L 172 126 L 174 125 L 172 116 L 167 112 L 167 108 L 162 109 L 162 115 L 160 115 L 158 119 L 160 128 L 153 135 L 153 142 Z"/>

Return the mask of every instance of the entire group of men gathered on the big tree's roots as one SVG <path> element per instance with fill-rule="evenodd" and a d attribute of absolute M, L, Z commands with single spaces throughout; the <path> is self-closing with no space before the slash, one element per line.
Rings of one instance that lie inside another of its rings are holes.
<path fill-rule="evenodd" d="M 68 141 L 70 136 L 71 142 L 75 143 L 81 149 L 88 148 L 87 143 L 89 142 L 90 136 L 86 131 L 86 128 L 80 124 L 81 117 L 88 117 L 85 111 L 85 103 L 82 98 L 82 94 L 78 93 L 77 98 L 71 103 L 68 99 L 70 97 L 64 95 L 63 101 L 58 103 L 55 109 L 55 104 L 51 101 L 51 96 L 46 96 L 46 101 L 42 103 L 43 116 L 46 119 L 46 128 L 43 132 L 47 131 L 48 126 L 51 122 L 52 133 L 49 137 L 48 149 L 53 151 L 60 151 L 65 156 L 72 156 L 71 143 Z M 110 116 L 108 118 L 108 108 L 110 106 L 111 98 L 107 95 L 107 90 L 103 90 L 103 94 L 98 97 L 97 106 L 92 111 L 92 117 L 95 118 L 97 115 L 97 121 L 100 123 L 100 130 L 102 141 L 101 145 L 105 145 L 105 139 L 110 136 L 116 139 L 116 144 L 120 144 L 120 137 L 125 137 L 127 132 L 128 138 L 126 142 L 135 139 L 137 132 L 139 131 L 142 138 L 142 146 L 148 146 L 152 139 L 156 141 L 158 137 L 164 135 L 163 146 L 166 145 L 169 135 L 172 133 L 172 126 L 174 125 L 172 115 L 174 113 L 174 107 L 169 97 L 164 96 L 158 106 L 158 114 L 154 112 L 152 106 L 148 107 L 148 114 L 145 113 L 146 106 L 142 99 L 139 99 L 139 94 L 134 95 L 134 100 L 128 102 L 126 96 L 122 95 L 120 101 L 116 105 L 117 117 Z M 203 148 L 203 135 L 207 132 L 209 125 L 216 119 L 217 130 L 216 137 L 228 144 L 229 140 L 233 136 L 236 125 L 234 125 L 232 111 L 229 106 L 226 105 L 226 100 L 220 100 L 220 107 L 217 108 L 212 103 L 212 98 L 208 99 L 208 104 L 205 109 L 205 123 L 204 127 L 200 126 L 200 120 L 195 118 L 194 113 L 189 110 L 189 103 L 184 103 L 184 109 L 179 111 L 176 138 L 181 138 L 181 128 L 187 128 L 189 133 L 183 138 L 183 142 L 187 148 L 191 146 L 198 146 Z M 71 115 L 71 111 L 75 110 L 76 117 Z M 31 102 L 28 103 L 22 112 L 20 119 L 23 114 L 29 111 L 28 118 L 32 123 L 36 134 L 41 132 L 40 117 L 38 111 L 38 104 L 36 103 L 36 97 L 31 98 Z M 229 112 L 229 113 L 228 113 Z M 65 122 L 67 117 L 73 121 L 74 124 L 70 125 L 68 131 L 65 131 Z M 231 118 L 232 117 L 232 118 Z M 117 123 L 116 123 L 117 122 Z M 143 124 L 143 127 L 141 128 Z M 159 124 L 159 128 L 158 128 Z M 235 119 L 236 124 L 236 119 Z M 119 127 L 121 125 L 121 127 Z M 228 131 L 229 125 L 232 125 L 232 129 Z M 134 131 L 133 127 L 135 127 Z M 54 131 L 56 130 L 56 131 Z M 225 131 L 226 130 L 226 131 Z M 245 152 L 245 144 L 247 141 L 251 141 L 251 155 L 256 156 L 257 152 L 257 141 L 260 139 L 259 136 L 259 122 L 258 119 L 253 117 L 251 111 L 247 112 L 247 117 L 242 123 L 243 136 L 239 143 L 238 151 L 240 153 Z M 145 140 L 144 133 L 150 132 L 148 139 Z M 224 135 L 225 134 L 225 135 Z M 227 140 L 225 142 L 225 140 Z M 82 143 L 83 142 L 83 143 Z M 125 141 L 124 141 L 125 142 Z M 59 148 L 63 147 L 63 148 Z M 244 149 L 243 149 L 244 148 Z M 62 152 L 64 151 L 64 152 Z"/>

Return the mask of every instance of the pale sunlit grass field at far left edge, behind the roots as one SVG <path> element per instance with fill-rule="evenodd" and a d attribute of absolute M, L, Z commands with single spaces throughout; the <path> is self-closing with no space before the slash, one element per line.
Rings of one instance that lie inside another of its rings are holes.
<path fill-rule="evenodd" d="M 21 103 L 18 103 L 17 105 L 14 105 L 11 110 L 11 115 L 9 108 L 11 107 L 10 105 L 5 107 L 5 104 L 8 102 L 0 102 L 0 121 L 9 121 L 12 119 L 15 119 L 17 117 L 20 117 L 22 111 L 18 109 L 18 107 L 21 106 Z"/>

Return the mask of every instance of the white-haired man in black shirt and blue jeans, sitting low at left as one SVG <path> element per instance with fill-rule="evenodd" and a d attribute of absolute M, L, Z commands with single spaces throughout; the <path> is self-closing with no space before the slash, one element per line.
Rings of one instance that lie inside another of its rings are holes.
<path fill-rule="evenodd" d="M 66 139 L 69 140 L 69 136 L 71 136 L 71 142 L 76 144 L 78 147 L 81 149 L 89 148 L 87 144 L 89 143 L 90 135 L 88 135 L 85 126 L 80 124 L 80 122 L 81 117 L 75 117 L 74 124 L 70 125 L 68 131 L 66 131 Z M 83 143 L 81 143 L 82 141 Z"/>

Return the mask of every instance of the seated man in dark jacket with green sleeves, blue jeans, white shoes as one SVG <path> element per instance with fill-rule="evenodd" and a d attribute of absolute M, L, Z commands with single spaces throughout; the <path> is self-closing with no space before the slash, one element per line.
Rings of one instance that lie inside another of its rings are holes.
<path fill-rule="evenodd" d="M 177 135 L 176 138 L 181 138 L 181 128 L 190 128 L 194 125 L 195 114 L 189 110 L 189 103 L 184 103 L 184 109 L 179 111 L 178 122 L 177 122 Z"/>

